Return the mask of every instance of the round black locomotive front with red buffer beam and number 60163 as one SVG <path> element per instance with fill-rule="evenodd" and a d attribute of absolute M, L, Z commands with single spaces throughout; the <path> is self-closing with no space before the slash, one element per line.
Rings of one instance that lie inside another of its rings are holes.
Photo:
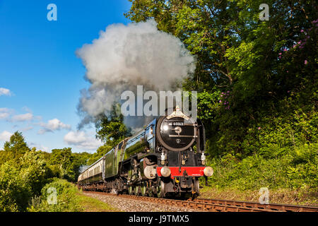
<path fill-rule="evenodd" d="M 157 174 L 160 194 L 199 194 L 199 177 L 210 177 L 206 167 L 204 126 L 179 108 L 158 118 L 156 124 Z"/>

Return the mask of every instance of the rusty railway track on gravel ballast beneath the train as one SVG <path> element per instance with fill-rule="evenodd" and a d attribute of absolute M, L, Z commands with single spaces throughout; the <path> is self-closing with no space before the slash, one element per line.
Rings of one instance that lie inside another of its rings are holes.
<path fill-rule="evenodd" d="M 153 198 L 148 196 L 134 196 L 129 194 L 110 194 L 100 191 L 86 191 L 88 193 L 101 194 L 105 196 L 118 196 L 141 201 L 162 203 L 165 205 L 182 206 L 209 212 L 318 212 L 318 207 L 313 206 L 295 206 L 287 204 L 260 204 L 245 201 L 229 201 L 221 199 L 195 198 L 176 200 L 170 198 Z"/>

